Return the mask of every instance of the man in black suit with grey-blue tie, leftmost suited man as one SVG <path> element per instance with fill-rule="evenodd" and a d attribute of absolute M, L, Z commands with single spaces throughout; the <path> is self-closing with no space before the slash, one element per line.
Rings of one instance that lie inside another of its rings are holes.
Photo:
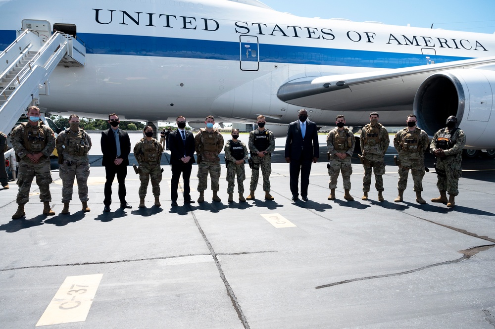
<path fill-rule="evenodd" d="M 127 176 L 127 166 L 129 165 L 129 153 L 131 152 L 131 141 L 129 135 L 119 129 L 119 117 L 112 113 L 108 116 L 110 129 L 101 132 L 101 152 L 103 160 L 101 164 L 105 167 L 105 199 L 103 211 L 110 211 L 112 203 L 112 183 L 117 175 L 119 182 L 120 208 L 132 208 L 125 200 L 125 178 Z"/>

